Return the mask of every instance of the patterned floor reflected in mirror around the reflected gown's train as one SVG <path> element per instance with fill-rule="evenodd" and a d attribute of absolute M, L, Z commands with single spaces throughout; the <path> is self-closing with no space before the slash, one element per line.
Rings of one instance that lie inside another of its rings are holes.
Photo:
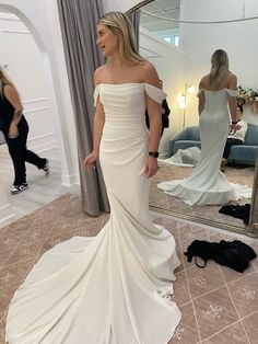
<path fill-rule="evenodd" d="M 191 174 L 191 168 L 181 168 L 176 165 L 161 167 L 156 175 L 153 177 L 151 186 L 150 205 L 176 211 L 177 214 L 190 215 L 195 218 L 203 218 L 208 220 L 218 221 L 221 223 L 233 225 L 239 228 L 245 228 L 242 219 L 237 219 L 224 214 L 220 214 L 219 209 L 221 206 L 189 206 L 181 199 L 166 195 L 162 190 L 157 188 L 156 185 L 160 182 L 169 180 L 180 180 Z M 226 168 L 226 177 L 230 182 L 238 183 L 241 185 L 247 185 L 253 187 L 254 180 L 254 167 L 247 168 Z M 250 199 L 242 199 L 238 204 L 250 203 Z"/>

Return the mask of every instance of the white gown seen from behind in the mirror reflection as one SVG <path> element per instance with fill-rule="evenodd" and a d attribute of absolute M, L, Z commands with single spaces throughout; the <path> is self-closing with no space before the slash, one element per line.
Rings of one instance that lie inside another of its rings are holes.
<path fill-rule="evenodd" d="M 162 182 L 157 185 L 166 194 L 181 198 L 188 205 L 219 205 L 241 198 L 250 198 L 251 188 L 230 183 L 220 171 L 230 127 L 227 98 L 236 91 L 221 89 L 204 92 L 206 106 L 200 115 L 201 160 L 192 174 L 184 180 Z"/>

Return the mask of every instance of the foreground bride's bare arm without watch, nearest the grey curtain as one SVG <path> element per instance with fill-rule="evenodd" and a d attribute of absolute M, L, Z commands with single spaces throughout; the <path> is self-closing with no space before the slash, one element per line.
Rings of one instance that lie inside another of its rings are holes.
<path fill-rule="evenodd" d="M 94 73 L 95 87 L 97 87 L 98 83 L 99 83 L 99 77 L 98 77 L 98 70 L 96 70 Z M 98 157 L 104 124 L 105 124 L 104 108 L 103 108 L 103 105 L 102 105 L 99 99 L 97 99 L 95 114 L 94 114 L 93 151 L 83 161 L 83 167 L 85 169 L 94 167 L 94 163 Z"/>

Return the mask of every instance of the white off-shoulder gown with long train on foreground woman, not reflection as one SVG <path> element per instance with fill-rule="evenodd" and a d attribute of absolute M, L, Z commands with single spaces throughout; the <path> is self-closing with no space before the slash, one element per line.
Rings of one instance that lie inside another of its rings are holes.
<path fill-rule="evenodd" d="M 179 266 L 175 240 L 154 226 L 144 174 L 148 83 L 98 84 L 105 111 L 99 161 L 110 219 L 94 238 L 74 237 L 47 251 L 15 293 L 10 344 L 166 344 L 180 320 L 169 298 Z"/>

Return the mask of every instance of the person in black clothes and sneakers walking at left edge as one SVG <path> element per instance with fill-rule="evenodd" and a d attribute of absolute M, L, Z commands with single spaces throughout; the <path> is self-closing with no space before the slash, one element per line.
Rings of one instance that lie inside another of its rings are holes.
<path fill-rule="evenodd" d="M 8 144 L 14 167 L 14 182 L 11 194 L 15 195 L 28 187 L 25 161 L 49 173 L 48 160 L 27 150 L 28 124 L 22 114 L 23 106 L 14 84 L 0 67 L 0 130 Z"/>

